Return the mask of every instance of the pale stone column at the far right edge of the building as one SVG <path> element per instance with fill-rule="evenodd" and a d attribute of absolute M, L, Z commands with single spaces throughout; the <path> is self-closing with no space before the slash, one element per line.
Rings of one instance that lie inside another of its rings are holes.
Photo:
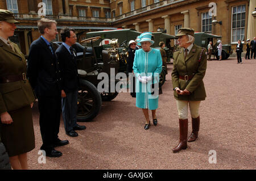
<path fill-rule="evenodd" d="M 256 18 L 251 15 L 251 13 L 254 11 L 256 5 L 256 1 L 250 1 L 249 5 L 249 14 L 248 14 L 248 26 L 247 26 L 247 37 L 246 39 L 253 40 L 253 37 L 256 36 Z M 246 41 L 246 40 L 245 40 Z"/>

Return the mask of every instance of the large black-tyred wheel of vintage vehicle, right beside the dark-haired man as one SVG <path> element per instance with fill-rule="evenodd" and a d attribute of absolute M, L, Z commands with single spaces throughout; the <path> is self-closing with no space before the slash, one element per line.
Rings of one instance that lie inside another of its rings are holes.
<path fill-rule="evenodd" d="M 101 109 L 101 95 L 97 88 L 84 79 L 80 79 L 80 88 L 78 93 L 77 121 L 92 121 L 98 115 Z"/>

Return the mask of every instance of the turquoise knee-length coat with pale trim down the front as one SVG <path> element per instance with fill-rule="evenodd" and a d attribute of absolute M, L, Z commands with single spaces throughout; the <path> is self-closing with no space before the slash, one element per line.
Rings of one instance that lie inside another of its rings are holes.
<path fill-rule="evenodd" d="M 162 71 L 160 50 L 154 48 L 151 48 L 149 52 L 144 52 L 143 49 L 136 50 L 133 71 L 137 78 L 136 106 L 143 109 L 156 110 L 158 108 L 158 94 L 151 94 L 151 86 L 152 82 L 159 82 L 159 74 Z M 139 82 L 139 75 L 142 77 L 151 76 L 152 81 L 148 81 L 146 84 Z"/>

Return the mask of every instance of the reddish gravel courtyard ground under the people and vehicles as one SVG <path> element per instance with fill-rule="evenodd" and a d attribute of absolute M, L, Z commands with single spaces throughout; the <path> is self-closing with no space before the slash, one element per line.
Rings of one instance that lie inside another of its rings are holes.
<path fill-rule="evenodd" d="M 172 64 L 159 96 L 156 127 L 151 120 L 150 129 L 144 130 L 142 110 L 135 107 L 129 93 L 122 92 L 111 102 L 103 102 L 93 121 L 79 123 L 87 127 L 77 131 L 79 137 L 68 137 L 61 119 L 59 137 L 69 144 L 56 148 L 63 155 L 47 157 L 45 164 L 38 163 L 42 138 L 35 105 L 36 148 L 28 153 L 29 169 L 256 169 L 255 70 L 256 60 L 243 60 L 243 64 L 234 58 L 208 61 L 204 78 L 207 99 L 201 102 L 199 138 L 175 154 L 172 148 L 179 141 L 179 121 Z M 216 164 L 209 163 L 210 150 L 216 151 Z"/>

